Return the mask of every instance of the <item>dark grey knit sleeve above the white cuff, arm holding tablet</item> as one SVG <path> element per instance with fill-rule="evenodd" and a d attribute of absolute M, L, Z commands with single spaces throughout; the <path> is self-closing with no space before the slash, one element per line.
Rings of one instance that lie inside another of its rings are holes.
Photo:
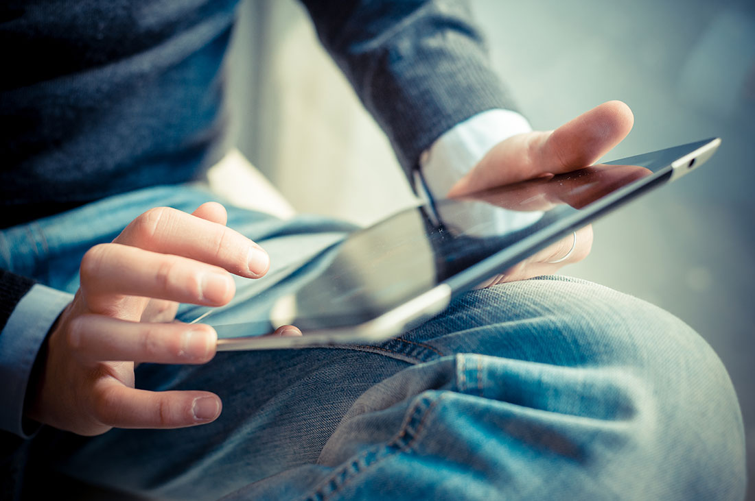
<path fill-rule="evenodd" d="M 302 2 L 407 173 L 455 124 L 488 109 L 513 109 L 467 2 Z"/>

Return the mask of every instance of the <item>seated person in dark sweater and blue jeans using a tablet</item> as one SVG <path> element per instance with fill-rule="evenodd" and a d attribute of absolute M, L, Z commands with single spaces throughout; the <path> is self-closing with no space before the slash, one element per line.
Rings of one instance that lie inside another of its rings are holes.
<path fill-rule="evenodd" d="M 741 414 L 713 350 L 670 313 L 553 274 L 587 255 L 589 227 L 569 258 L 571 237 L 381 344 L 216 353 L 192 305 L 296 280 L 350 231 L 193 183 L 223 153 L 236 3 L 0 8 L 7 496 L 50 470 L 175 499 L 742 496 Z M 532 131 L 464 2 L 304 5 L 436 193 L 579 169 L 632 127 L 606 102 Z"/>

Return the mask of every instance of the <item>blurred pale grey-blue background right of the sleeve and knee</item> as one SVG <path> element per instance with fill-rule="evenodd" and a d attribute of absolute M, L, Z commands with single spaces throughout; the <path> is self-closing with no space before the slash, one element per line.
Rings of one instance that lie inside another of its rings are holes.
<path fill-rule="evenodd" d="M 564 273 L 670 310 L 719 353 L 744 414 L 755 499 L 755 4 L 473 5 L 534 127 L 621 99 L 635 125 L 611 158 L 723 139 L 694 175 L 596 223 L 590 257 Z"/>

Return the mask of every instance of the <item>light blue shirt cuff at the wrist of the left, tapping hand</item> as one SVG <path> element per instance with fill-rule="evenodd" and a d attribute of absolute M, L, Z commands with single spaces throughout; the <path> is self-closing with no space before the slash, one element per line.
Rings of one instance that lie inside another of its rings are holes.
<path fill-rule="evenodd" d="M 8 317 L 0 333 L 0 429 L 29 438 L 39 426 L 23 419 L 26 386 L 48 331 L 72 298 L 38 283 Z"/>

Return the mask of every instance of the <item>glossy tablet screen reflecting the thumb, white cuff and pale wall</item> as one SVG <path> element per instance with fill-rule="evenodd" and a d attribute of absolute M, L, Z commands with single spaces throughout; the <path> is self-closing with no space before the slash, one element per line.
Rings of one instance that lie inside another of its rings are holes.
<path fill-rule="evenodd" d="M 406 209 L 316 256 L 288 289 L 255 295 L 250 301 L 265 305 L 265 318 L 223 329 L 223 336 L 263 335 L 286 324 L 306 336 L 367 322 L 693 149 L 670 148 Z M 219 315 L 216 324 L 223 323 L 222 310 L 212 313 Z"/>

